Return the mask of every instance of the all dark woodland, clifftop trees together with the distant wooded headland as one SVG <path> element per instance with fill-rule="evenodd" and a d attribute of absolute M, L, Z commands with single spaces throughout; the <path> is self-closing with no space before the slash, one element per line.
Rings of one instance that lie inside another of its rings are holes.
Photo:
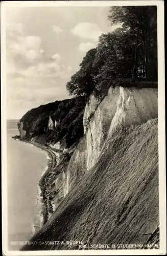
<path fill-rule="evenodd" d="M 102 99 L 111 86 L 157 87 L 157 7 L 111 7 L 108 20 L 121 27 L 102 34 L 97 48 L 86 53 L 66 84 L 74 98 L 27 112 L 20 120 L 26 139 L 40 137 L 70 147 L 83 136 L 84 106 L 90 94 Z M 48 128 L 49 116 L 59 123 L 53 130 Z"/>

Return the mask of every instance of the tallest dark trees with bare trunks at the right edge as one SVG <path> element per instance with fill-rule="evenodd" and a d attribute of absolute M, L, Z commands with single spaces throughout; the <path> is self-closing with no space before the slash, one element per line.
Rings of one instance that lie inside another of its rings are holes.
<path fill-rule="evenodd" d="M 157 8 L 156 6 L 112 7 L 108 16 L 111 24 L 121 24 L 135 37 L 133 76 L 138 62 L 145 62 L 145 77 L 157 79 Z M 142 52 L 142 55 L 141 55 Z M 140 58 L 138 58 L 140 56 Z"/>

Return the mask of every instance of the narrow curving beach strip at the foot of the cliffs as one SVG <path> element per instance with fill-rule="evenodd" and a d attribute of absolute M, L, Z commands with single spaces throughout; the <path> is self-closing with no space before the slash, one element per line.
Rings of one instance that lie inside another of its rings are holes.
<path fill-rule="evenodd" d="M 40 189 L 40 197 L 41 197 L 41 215 L 43 218 L 42 221 L 42 226 L 47 222 L 47 220 L 49 219 L 49 209 L 48 209 L 48 205 L 47 205 L 47 198 L 46 198 L 46 183 L 45 183 L 45 177 L 47 174 L 50 173 L 50 171 L 56 167 L 57 165 L 57 161 L 56 161 L 56 155 L 53 153 L 52 149 L 39 144 L 38 142 L 30 142 L 27 140 L 21 140 L 19 138 L 14 138 L 17 141 L 20 141 L 22 143 L 27 143 L 30 145 L 33 145 L 34 147 L 36 147 L 38 150 L 43 151 L 44 153 L 46 153 L 47 155 L 47 166 L 46 168 L 43 170 L 43 173 L 38 181 L 38 186 Z"/>

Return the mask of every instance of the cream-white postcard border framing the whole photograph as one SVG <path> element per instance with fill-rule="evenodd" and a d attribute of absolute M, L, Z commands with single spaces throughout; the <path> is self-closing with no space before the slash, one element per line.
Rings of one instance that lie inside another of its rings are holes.
<path fill-rule="evenodd" d="M 160 249 L 146 250 L 57 250 L 8 251 L 7 244 L 7 139 L 6 139 L 6 32 L 5 10 L 9 7 L 157 5 L 158 33 L 158 146 L 159 146 L 159 216 Z M 3 253 L 5 255 L 156 255 L 166 254 L 165 186 L 165 86 L 164 86 L 164 2 L 159 1 L 5 1 L 1 2 L 1 107 L 2 107 L 2 217 Z"/>

